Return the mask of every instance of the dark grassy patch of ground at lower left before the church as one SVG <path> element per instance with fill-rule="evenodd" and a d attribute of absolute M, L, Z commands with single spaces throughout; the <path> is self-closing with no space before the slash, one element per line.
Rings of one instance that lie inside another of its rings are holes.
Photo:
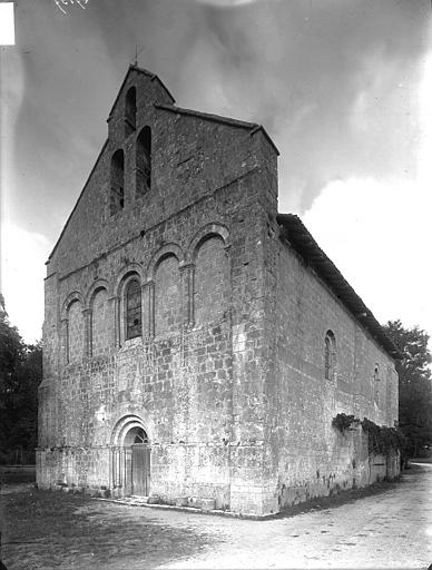
<path fill-rule="evenodd" d="M 164 525 L 151 511 L 38 491 L 2 494 L 2 561 L 8 570 L 139 569 L 215 544 L 208 532 Z"/>

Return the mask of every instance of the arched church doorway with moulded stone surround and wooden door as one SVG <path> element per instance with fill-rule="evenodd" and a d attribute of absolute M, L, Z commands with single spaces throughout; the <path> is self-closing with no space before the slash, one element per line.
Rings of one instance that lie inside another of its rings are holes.
<path fill-rule="evenodd" d="M 112 479 L 121 494 L 148 497 L 150 490 L 150 445 L 140 417 L 129 415 L 112 432 Z"/>

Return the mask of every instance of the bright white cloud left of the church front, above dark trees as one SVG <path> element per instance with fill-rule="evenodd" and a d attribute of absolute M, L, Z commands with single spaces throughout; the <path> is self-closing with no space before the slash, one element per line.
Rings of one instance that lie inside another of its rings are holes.
<path fill-rule="evenodd" d="M 1 246 L 1 292 L 9 321 L 32 343 L 42 336 L 45 262 L 51 244 L 6 220 Z"/>

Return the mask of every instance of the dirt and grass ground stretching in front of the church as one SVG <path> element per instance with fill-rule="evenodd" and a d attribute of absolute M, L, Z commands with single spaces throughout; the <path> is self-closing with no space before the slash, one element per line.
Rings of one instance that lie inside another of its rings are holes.
<path fill-rule="evenodd" d="M 3 484 L 1 554 L 8 570 L 426 569 L 431 490 L 432 465 L 415 465 L 355 501 L 254 521 Z"/>

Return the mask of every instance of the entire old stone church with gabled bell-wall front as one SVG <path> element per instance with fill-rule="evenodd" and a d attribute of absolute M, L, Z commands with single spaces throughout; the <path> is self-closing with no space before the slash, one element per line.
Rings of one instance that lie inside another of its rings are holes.
<path fill-rule="evenodd" d="M 40 488 L 263 515 L 397 473 L 393 344 L 301 219 L 256 124 L 131 66 L 47 262 Z"/>

